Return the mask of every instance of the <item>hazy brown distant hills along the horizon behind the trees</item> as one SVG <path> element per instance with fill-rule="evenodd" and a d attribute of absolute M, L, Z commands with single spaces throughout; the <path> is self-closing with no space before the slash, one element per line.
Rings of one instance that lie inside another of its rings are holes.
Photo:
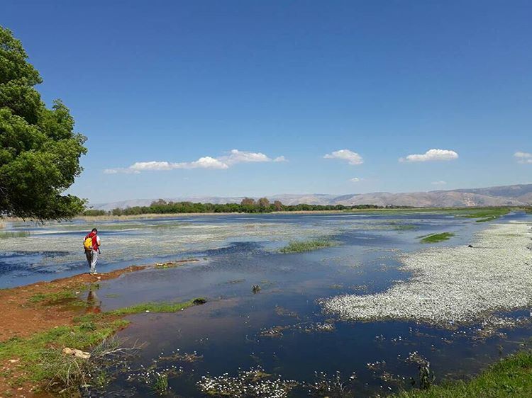
<path fill-rule="evenodd" d="M 243 198 L 243 196 L 199 196 L 163 199 L 173 202 L 240 203 Z M 123 200 L 121 202 L 100 203 L 92 206 L 95 209 L 112 210 L 116 207 L 147 206 L 157 199 Z M 284 194 L 273 195 L 268 197 L 268 199 L 272 202 L 274 200 L 280 200 L 284 205 L 306 203 L 309 205 L 394 205 L 413 207 L 521 206 L 532 205 L 532 184 L 412 193 L 375 192 L 348 195 L 328 195 L 323 193 L 306 195 Z"/>

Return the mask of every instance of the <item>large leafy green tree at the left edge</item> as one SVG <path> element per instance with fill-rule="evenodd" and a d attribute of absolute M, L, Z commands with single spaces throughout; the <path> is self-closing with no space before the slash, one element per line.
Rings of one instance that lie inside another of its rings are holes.
<path fill-rule="evenodd" d="M 39 72 L 0 26 L 0 214 L 38 220 L 78 215 L 85 201 L 62 193 L 82 172 L 83 135 L 60 101 L 47 108 L 33 86 Z"/>

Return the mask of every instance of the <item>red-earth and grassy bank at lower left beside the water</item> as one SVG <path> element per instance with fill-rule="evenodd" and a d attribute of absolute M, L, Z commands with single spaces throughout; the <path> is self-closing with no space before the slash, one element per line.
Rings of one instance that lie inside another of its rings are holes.
<path fill-rule="evenodd" d="M 99 280 L 80 274 L 0 290 L 3 299 L 0 312 L 5 317 L 0 341 L 0 397 L 33 396 L 40 390 L 74 394 L 87 381 L 92 384 L 94 377 L 90 375 L 96 369 L 101 372 L 102 380 L 106 378 L 108 365 L 101 354 L 102 347 L 109 348 L 109 343 L 116 343 L 111 352 L 121 349 L 118 340 L 109 338 L 130 323 L 124 317 L 146 312 L 179 312 L 206 302 L 203 298 L 146 302 L 99 312 L 90 293 L 87 299 L 82 298 L 87 290 L 97 290 L 101 280 L 144 268 L 128 267 L 103 273 Z M 64 348 L 92 354 L 90 358 L 76 358 L 63 353 Z"/>

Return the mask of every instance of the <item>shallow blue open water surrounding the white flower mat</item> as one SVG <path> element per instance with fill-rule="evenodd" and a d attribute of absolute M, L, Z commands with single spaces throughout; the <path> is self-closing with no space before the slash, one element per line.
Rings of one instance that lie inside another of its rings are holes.
<path fill-rule="evenodd" d="M 501 221 L 523 217 L 509 215 Z M 431 361 L 437 380 L 477 372 L 528 340 L 528 322 L 501 330 L 501 336 L 480 339 L 477 325 L 443 330 L 414 322 L 343 322 L 323 314 L 316 300 L 378 292 L 409 278 L 398 269 L 397 257 L 426 248 L 419 243 L 421 235 L 455 232 L 455 237 L 438 244 L 454 246 L 467 244 L 472 234 L 488 226 L 423 213 L 231 215 L 101 223 L 99 271 L 163 259 L 201 259 L 100 283 L 93 293 L 102 310 L 146 301 L 209 300 L 177 314 L 131 317 L 133 324 L 119 336 L 147 345 L 133 360 L 131 371 L 116 375 L 106 394 L 152 394 L 149 382 L 128 376 L 143 373 L 160 356 L 194 351 L 202 358 L 188 362 L 175 357 L 156 363 L 161 369 L 182 367 L 182 374 L 170 377 L 175 396 L 204 397 L 196 385 L 202 375 L 236 375 L 239 369 L 257 365 L 299 382 L 312 382 L 315 371 L 332 375 L 339 370 L 345 379 L 355 373 L 358 396 L 397 391 L 408 388 L 409 377 L 417 377 L 417 365 L 405 362 L 413 351 Z M 84 271 L 79 246 L 91 226 L 72 222 L 11 227 L 28 229 L 31 235 L 0 241 L 4 287 Z M 329 237 L 339 245 L 302 254 L 277 252 L 287 241 L 307 237 Z M 260 292 L 254 294 L 252 285 L 260 285 Z M 528 316 L 516 312 L 523 314 Z M 306 388 L 297 387 L 289 396 L 307 395 Z"/>

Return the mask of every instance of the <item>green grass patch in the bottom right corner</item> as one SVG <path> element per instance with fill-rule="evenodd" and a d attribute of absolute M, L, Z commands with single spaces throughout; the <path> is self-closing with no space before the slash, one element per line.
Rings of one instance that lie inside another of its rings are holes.
<path fill-rule="evenodd" d="M 394 395 L 400 398 L 532 397 L 532 352 L 508 356 L 467 382 L 446 382 L 429 390 Z"/>

